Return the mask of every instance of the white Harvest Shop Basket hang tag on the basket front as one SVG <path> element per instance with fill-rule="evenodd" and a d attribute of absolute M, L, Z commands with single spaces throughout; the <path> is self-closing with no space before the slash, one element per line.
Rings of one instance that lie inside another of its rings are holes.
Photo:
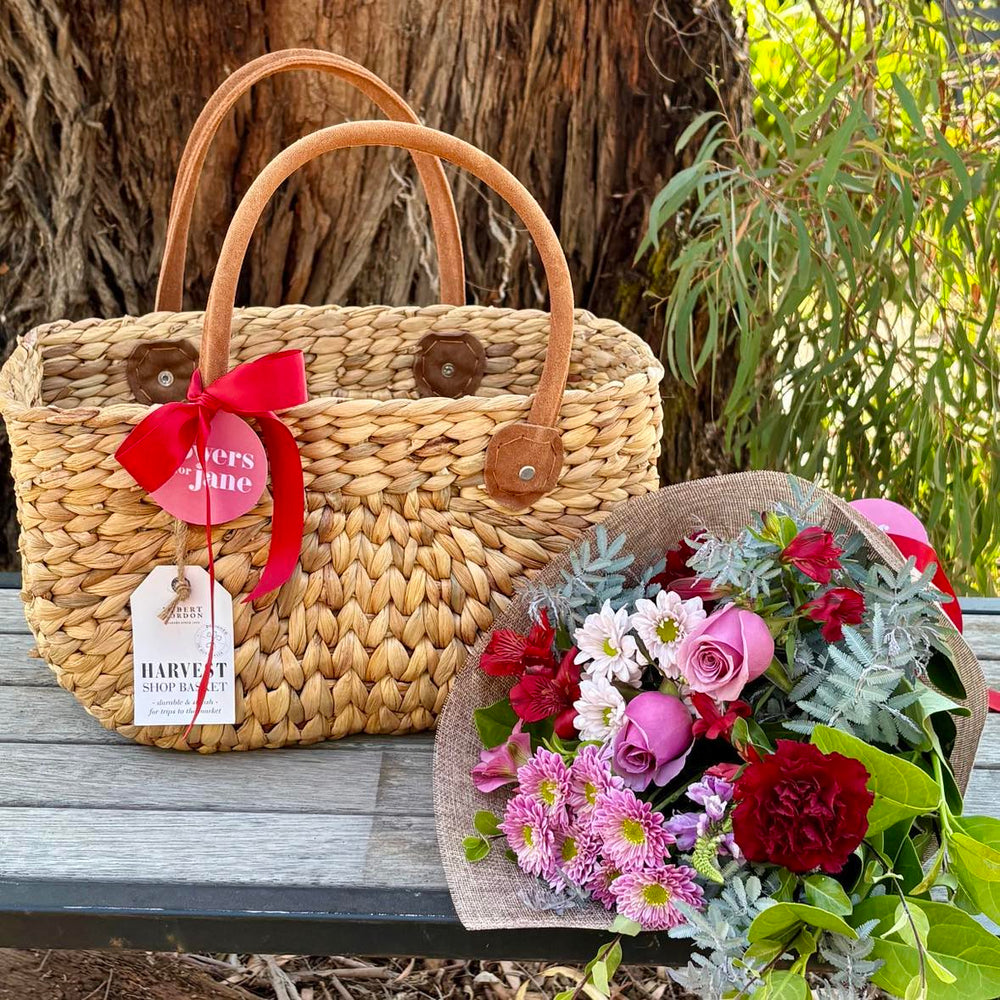
<path fill-rule="evenodd" d="M 176 566 L 157 566 L 132 593 L 137 726 L 186 726 L 194 718 L 212 637 L 212 614 L 208 571 L 186 566 L 184 576 L 191 593 L 176 603 L 167 621 L 160 615 L 177 596 Z M 212 670 L 196 725 L 236 722 L 233 659 L 233 599 L 216 581 Z"/>

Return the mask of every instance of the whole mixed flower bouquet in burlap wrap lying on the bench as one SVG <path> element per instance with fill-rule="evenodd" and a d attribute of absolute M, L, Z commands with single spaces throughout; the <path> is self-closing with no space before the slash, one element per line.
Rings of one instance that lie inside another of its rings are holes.
<path fill-rule="evenodd" d="M 1000 995 L 1000 820 L 962 813 L 985 683 L 919 522 L 859 513 L 884 503 L 671 486 L 534 577 L 438 725 L 467 928 L 687 938 L 708 998 Z"/>

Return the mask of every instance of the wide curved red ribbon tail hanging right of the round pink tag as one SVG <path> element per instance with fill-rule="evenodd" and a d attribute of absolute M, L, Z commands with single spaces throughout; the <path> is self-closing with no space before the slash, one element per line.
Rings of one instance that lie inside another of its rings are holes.
<path fill-rule="evenodd" d="M 271 546 L 257 586 L 243 599 L 256 600 L 280 587 L 294 572 L 302 549 L 305 488 L 302 459 L 292 432 L 273 414 L 256 414 L 271 465 Z"/>

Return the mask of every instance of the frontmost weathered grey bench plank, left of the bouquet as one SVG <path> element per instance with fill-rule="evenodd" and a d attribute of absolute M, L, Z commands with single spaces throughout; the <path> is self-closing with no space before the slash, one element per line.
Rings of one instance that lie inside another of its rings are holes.
<path fill-rule="evenodd" d="M 0 878 L 445 886 L 431 817 L 323 813 L 5 809 Z"/>

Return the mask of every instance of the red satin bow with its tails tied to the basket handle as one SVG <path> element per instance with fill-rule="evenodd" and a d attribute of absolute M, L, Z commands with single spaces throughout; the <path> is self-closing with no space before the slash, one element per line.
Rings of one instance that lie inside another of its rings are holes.
<path fill-rule="evenodd" d="M 309 398 L 301 351 L 279 351 L 234 368 L 207 388 L 195 369 L 187 401 L 165 403 L 136 425 L 115 452 L 115 458 L 148 493 L 158 490 L 180 467 L 192 446 L 202 469 L 212 419 L 219 410 L 257 421 L 271 471 L 271 545 L 257 586 L 244 598 L 253 601 L 280 587 L 291 575 L 302 548 L 305 497 L 302 463 L 292 432 L 275 410 L 298 406 Z M 205 489 L 205 541 L 208 546 L 209 604 L 212 635 L 208 660 L 198 686 L 191 731 L 208 690 L 215 652 L 215 560 L 212 556 L 212 501 Z"/>

